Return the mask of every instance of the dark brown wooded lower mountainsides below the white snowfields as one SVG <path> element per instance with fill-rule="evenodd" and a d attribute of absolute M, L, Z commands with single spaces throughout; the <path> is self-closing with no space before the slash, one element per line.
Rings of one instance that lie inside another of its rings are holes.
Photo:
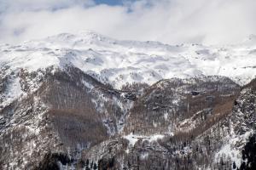
<path fill-rule="evenodd" d="M 256 80 L 172 78 L 116 90 L 72 66 L 12 76 L 26 95 L 0 109 L 0 169 L 255 167 Z"/>

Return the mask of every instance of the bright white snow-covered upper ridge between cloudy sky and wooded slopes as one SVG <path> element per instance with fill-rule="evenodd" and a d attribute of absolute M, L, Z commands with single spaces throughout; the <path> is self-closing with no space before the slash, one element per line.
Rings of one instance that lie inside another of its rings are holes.
<path fill-rule="evenodd" d="M 73 65 L 97 80 L 121 88 L 127 82 L 153 84 L 172 77 L 224 76 L 244 85 L 256 76 L 256 38 L 224 47 L 172 46 L 119 41 L 92 31 L 60 34 L 19 45 L 0 46 L 0 65 L 9 71 L 37 71 Z"/>

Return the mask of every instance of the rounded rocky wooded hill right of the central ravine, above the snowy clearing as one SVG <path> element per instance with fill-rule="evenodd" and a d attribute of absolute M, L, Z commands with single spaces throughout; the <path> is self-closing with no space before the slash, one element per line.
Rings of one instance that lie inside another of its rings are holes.
<path fill-rule="evenodd" d="M 131 109 L 127 133 L 189 132 L 228 114 L 240 88 L 226 77 L 162 80 L 144 91 Z"/>

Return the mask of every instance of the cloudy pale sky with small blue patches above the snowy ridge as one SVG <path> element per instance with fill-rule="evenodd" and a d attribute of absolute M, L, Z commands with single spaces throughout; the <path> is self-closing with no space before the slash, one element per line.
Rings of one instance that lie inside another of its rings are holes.
<path fill-rule="evenodd" d="M 230 44 L 256 34 L 255 0 L 0 0 L 0 42 L 67 32 L 170 44 Z"/>

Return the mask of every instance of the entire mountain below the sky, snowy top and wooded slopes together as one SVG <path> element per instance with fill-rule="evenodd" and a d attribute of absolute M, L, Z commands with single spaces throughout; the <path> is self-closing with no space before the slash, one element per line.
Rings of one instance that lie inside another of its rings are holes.
<path fill-rule="evenodd" d="M 171 46 L 91 31 L 3 44 L 0 169 L 253 166 L 255 51 L 255 36 Z"/>

